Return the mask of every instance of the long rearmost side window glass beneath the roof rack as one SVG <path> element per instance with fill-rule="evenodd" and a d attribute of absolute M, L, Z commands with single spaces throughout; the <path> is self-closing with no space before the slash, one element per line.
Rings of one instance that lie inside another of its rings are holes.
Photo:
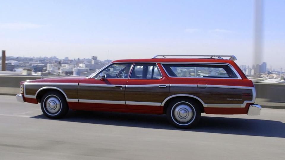
<path fill-rule="evenodd" d="M 171 77 L 238 78 L 228 65 L 162 64 Z"/>

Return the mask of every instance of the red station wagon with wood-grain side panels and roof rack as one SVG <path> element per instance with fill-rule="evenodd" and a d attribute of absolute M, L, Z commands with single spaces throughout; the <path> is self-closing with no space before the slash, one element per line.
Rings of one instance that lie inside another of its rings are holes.
<path fill-rule="evenodd" d="M 115 60 L 88 77 L 22 81 L 16 97 L 41 103 L 45 116 L 56 119 L 69 109 L 167 114 L 175 127 L 189 128 L 201 113 L 259 115 L 254 84 L 234 60 L 225 55 Z"/>

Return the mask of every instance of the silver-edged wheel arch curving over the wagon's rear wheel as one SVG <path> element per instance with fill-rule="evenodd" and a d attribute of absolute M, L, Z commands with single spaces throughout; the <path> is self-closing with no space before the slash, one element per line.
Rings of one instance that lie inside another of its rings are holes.
<path fill-rule="evenodd" d="M 165 98 L 165 100 L 161 103 L 161 106 L 163 106 L 163 113 L 166 113 L 168 104 L 176 98 L 186 98 L 186 99 L 195 100 L 200 105 L 201 113 L 205 112 L 204 107 L 206 107 L 206 104 L 199 97 L 194 95 L 178 94 L 178 95 L 171 95 Z"/>

